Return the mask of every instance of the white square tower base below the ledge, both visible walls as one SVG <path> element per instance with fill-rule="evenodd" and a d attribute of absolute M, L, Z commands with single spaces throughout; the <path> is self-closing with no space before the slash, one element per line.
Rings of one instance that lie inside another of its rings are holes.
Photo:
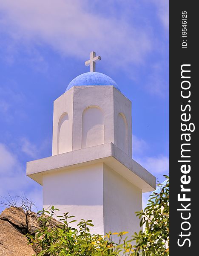
<path fill-rule="evenodd" d="M 75 215 L 72 227 L 93 220 L 92 233 L 140 230 L 134 212 L 142 209 L 141 189 L 103 163 L 43 175 L 43 207 L 52 205 L 57 215 Z"/>

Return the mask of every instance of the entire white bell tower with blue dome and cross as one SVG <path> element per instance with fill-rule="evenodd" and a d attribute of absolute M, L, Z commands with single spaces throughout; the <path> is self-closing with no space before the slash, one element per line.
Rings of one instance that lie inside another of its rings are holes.
<path fill-rule="evenodd" d="M 52 156 L 27 163 L 43 186 L 43 207 L 54 205 L 75 219 L 92 219 L 92 233 L 139 232 L 142 192 L 156 179 L 132 159 L 131 101 L 110 77 L 77 76 L 54 101 Z M 74 222 L 75 226 L 76 222 Z"/>

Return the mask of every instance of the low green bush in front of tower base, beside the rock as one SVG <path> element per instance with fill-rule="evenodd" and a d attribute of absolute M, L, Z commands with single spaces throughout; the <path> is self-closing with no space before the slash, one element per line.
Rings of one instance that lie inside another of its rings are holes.
<path fill-rule="evenodd" d="M 35 236 L 28 235 L 29 243 L 34 245 L 38 256 L 93 256 L 93 255 L 119 255 L 122 247 L 126 250 L 132 248 L 127 244 L 126 239 L 122 241 L 122 237 L 127 232 L 108 233 L 106 239 L 101 235 L 91 235 L 89 227 L 93 227 L 91 220 L 81 220 L 77 224 L 77 229 L 71 228 L 70 224 L 75 220 L 71 220 L 74 216 L 69 216 L 68 212 L 64 216 L 57 216 L 63 224 L 60 227 L 50 227 L 51 218 L 54 211 L 58 210 L 51 207 L 50 211 L 43 211 L 39 217 L 41 229 Z M 46 214 L 49 215 L 48 220 Z M 119 243 L 112 241 L 112 235 L 119 236 Z M 131 254 L 129 254 L 131 255 Z"/>

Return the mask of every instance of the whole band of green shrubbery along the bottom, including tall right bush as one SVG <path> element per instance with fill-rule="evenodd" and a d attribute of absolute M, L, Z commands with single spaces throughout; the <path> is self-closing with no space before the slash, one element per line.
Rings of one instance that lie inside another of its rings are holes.
<path fill-rule="evenodd" d="M 167 177 L 168 178 L 168 177 Z M 160 256 L 169 255 L 169 180 L 161 187 L 159 194 L 150 196 L 144 211 L 137 212 L 141 219 L 140 227 L 145 230 L 135 233 L 131 239 L 124 235 L 128 232 L 108 233 L 101 236 L 90 233 L 93 227 L 91 220 L 81 220 L 77 229 L 70 227 L 74 216 L 68 212 L 57 216 L 63 224 L 60 227 L 51 226 L 51 218 L 55 209 L 40 211 L 40 230 L 34 235 L 27 235 L 29 243 L 34 246 L 38 256 Z M 46 219 L 46 214 L 49 216 Z M 113 236 L 119 237 L 119 242 L 113 241 Z M 132 245 L 135 244 L 135 245 Z"/>

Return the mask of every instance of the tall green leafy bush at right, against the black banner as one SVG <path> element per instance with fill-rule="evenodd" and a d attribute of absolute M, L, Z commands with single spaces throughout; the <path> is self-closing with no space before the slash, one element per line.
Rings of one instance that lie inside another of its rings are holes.
<path fill-rule="evenodd" d="M 159 185 L 160 192 L 153 193 L 144 211 L 136 212 L 144 231 L 135 233 L 134 256 L 169 255 L 169 177 L 166 184 Z"/>

